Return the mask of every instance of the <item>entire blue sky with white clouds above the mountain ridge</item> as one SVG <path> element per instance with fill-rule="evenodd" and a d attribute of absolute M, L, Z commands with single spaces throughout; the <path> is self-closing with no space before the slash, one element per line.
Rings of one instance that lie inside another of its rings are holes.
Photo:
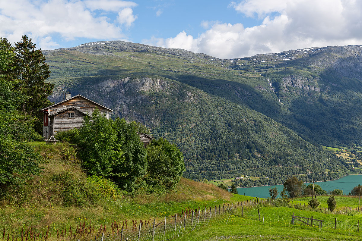
<path fill-rule="evenodd" d="M 361 0 L 0 0 L 0 37 L 51 50 L 123 40 L 221 59 L 362 45 Z"/>

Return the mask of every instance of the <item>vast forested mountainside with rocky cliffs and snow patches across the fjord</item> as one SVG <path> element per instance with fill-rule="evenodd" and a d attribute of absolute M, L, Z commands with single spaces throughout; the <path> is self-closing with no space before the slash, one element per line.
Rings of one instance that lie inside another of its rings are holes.
<path fill-rule="evenodd" d="M 349 165 L 320 144 L 361 144 L 358 46 L 232 60 L 122 41 L 43 53 L 52 101 L 63 90 L 82 94 L 150 126 L 180 147 L 189 178 L 328 180 Z"/>

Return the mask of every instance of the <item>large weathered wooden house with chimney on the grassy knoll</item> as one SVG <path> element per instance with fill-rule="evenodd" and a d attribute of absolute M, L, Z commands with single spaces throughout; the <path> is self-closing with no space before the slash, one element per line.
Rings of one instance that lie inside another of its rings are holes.
<path fill-rule="evenodd" d="M 71 97 L 66 93 L 65 100 L 43 108 L 43 137 L 49 139 L 57 132 L 80 128 L 83 125 L 85 115 L 91 115 L 94 109 L 98 108 L 105 113 L 109 119 L 109 113 L 113 110 L 94 102 L 82 95 Z"/>

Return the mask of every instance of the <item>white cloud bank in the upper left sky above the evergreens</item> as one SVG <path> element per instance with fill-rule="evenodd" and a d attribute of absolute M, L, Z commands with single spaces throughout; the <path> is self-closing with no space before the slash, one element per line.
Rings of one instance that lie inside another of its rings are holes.
<path fill-rule="evenodd" d="M 17 0 L 14 4 L 0 0 L 0 36 L 8 38 L 9 42 L 17 42 L 22 35 L 28 35 L 43 49 L 59 47 L 52 40 L 55 35 L 66 41 L 75 38 L 121 39 L 125 38 L 121 25 L 107 14 L 119 10 L 118 18 L 129 26 L 136 18 L 127 6 L 136 4 L 114 0 Z"/>

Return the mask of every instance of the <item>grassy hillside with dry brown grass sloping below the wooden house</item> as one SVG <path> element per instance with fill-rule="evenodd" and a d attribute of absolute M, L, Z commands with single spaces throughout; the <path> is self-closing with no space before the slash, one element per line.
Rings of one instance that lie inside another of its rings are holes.
<path fill-rule="evenodd" d="M 103 183 L 103 186 L 97 186 L 97 190 L 105 195 L 92 200 L 90 191 L 80 188 L 87 186 L 89 179 L 80 168 L 75 149 L 62 143 L 36 144 L 44 157 L 43 173 L 29 180 L 21 190 L 7 190 L 7 196 L 0 203 L 0 228 L 19 230 L 32 227 L 39 231 L 47 226 L 51 229 L 75 228 L 79 222 L 89 221 L 96 226 L 110 225 L 113 219 L 170 216 L 185 208 L 251 198 L 231 194 L 212 184 L 181 178 L 175 190 L 153 195 L 144 195 L 142 190 L 134 196 L 122 192 L 109 195 L 113 189 Z M 59 181 L 56 177 L 60 175 L 68 176 L 68 179 Z"/>

